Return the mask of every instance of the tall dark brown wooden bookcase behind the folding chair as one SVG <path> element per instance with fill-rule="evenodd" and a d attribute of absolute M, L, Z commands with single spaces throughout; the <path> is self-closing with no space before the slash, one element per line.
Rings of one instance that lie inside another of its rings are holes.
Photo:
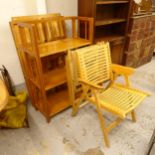
<path fill-rule="evenodd" d="M 78 0 L 78 15 L 95 19 L 94 43 L 110 42 L 113 63 L 122 64 L 130 6 L 130 0 Z"/>

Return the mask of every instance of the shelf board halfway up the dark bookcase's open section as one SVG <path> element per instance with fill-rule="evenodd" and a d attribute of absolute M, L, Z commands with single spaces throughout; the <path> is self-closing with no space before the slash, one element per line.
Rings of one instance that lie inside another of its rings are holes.
<path fill-rule="evenodd" d="M 97 20 L 95 22 L 95 26 L 102 26 L 102 25 L 109 25 L 114 23 L 121 23 L 125 22 L 126 19 L 122 18 L 111 18 L 111 19 L 105 19 L 105 20 Z"/>

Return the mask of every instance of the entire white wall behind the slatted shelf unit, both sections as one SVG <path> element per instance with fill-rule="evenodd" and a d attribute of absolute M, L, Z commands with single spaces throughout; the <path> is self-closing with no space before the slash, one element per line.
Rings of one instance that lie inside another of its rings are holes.
<path fill-rule="evenodd" d="M 46 9 L 47 3 L 47 9 Z M 5 65 L 13 82 L 24 82 L 15 44 L 9 27 L 13 16 L 61 13 L 64 16 L 77 15 L 77 0 L 4 0 L 0 1 L 0 67 Z"/>

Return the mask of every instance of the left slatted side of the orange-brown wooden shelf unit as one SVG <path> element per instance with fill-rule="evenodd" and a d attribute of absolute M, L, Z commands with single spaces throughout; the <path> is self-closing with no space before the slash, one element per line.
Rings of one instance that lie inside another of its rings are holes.
<path fill-rule="evenodd" d="M 46 110 L 42 66 L 36 40 L 36 27 L 32 24 L 17 24 L 21 44 L 18 46 L 26 83 L 33 105 L 41 111 Z"/>

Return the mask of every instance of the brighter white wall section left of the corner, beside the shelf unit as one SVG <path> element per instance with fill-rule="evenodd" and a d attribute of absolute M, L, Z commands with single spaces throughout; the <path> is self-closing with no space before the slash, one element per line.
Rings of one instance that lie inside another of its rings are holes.
<path fill-rule="evenodd" d="M 23 83 L 24 79 L 9 27 L 9 21 L 13 16 L 46 13 L 45 4 L 45 0 L 0 1 L 0 65 L 3 64 L 6 66 L 15 84 Z"/>

